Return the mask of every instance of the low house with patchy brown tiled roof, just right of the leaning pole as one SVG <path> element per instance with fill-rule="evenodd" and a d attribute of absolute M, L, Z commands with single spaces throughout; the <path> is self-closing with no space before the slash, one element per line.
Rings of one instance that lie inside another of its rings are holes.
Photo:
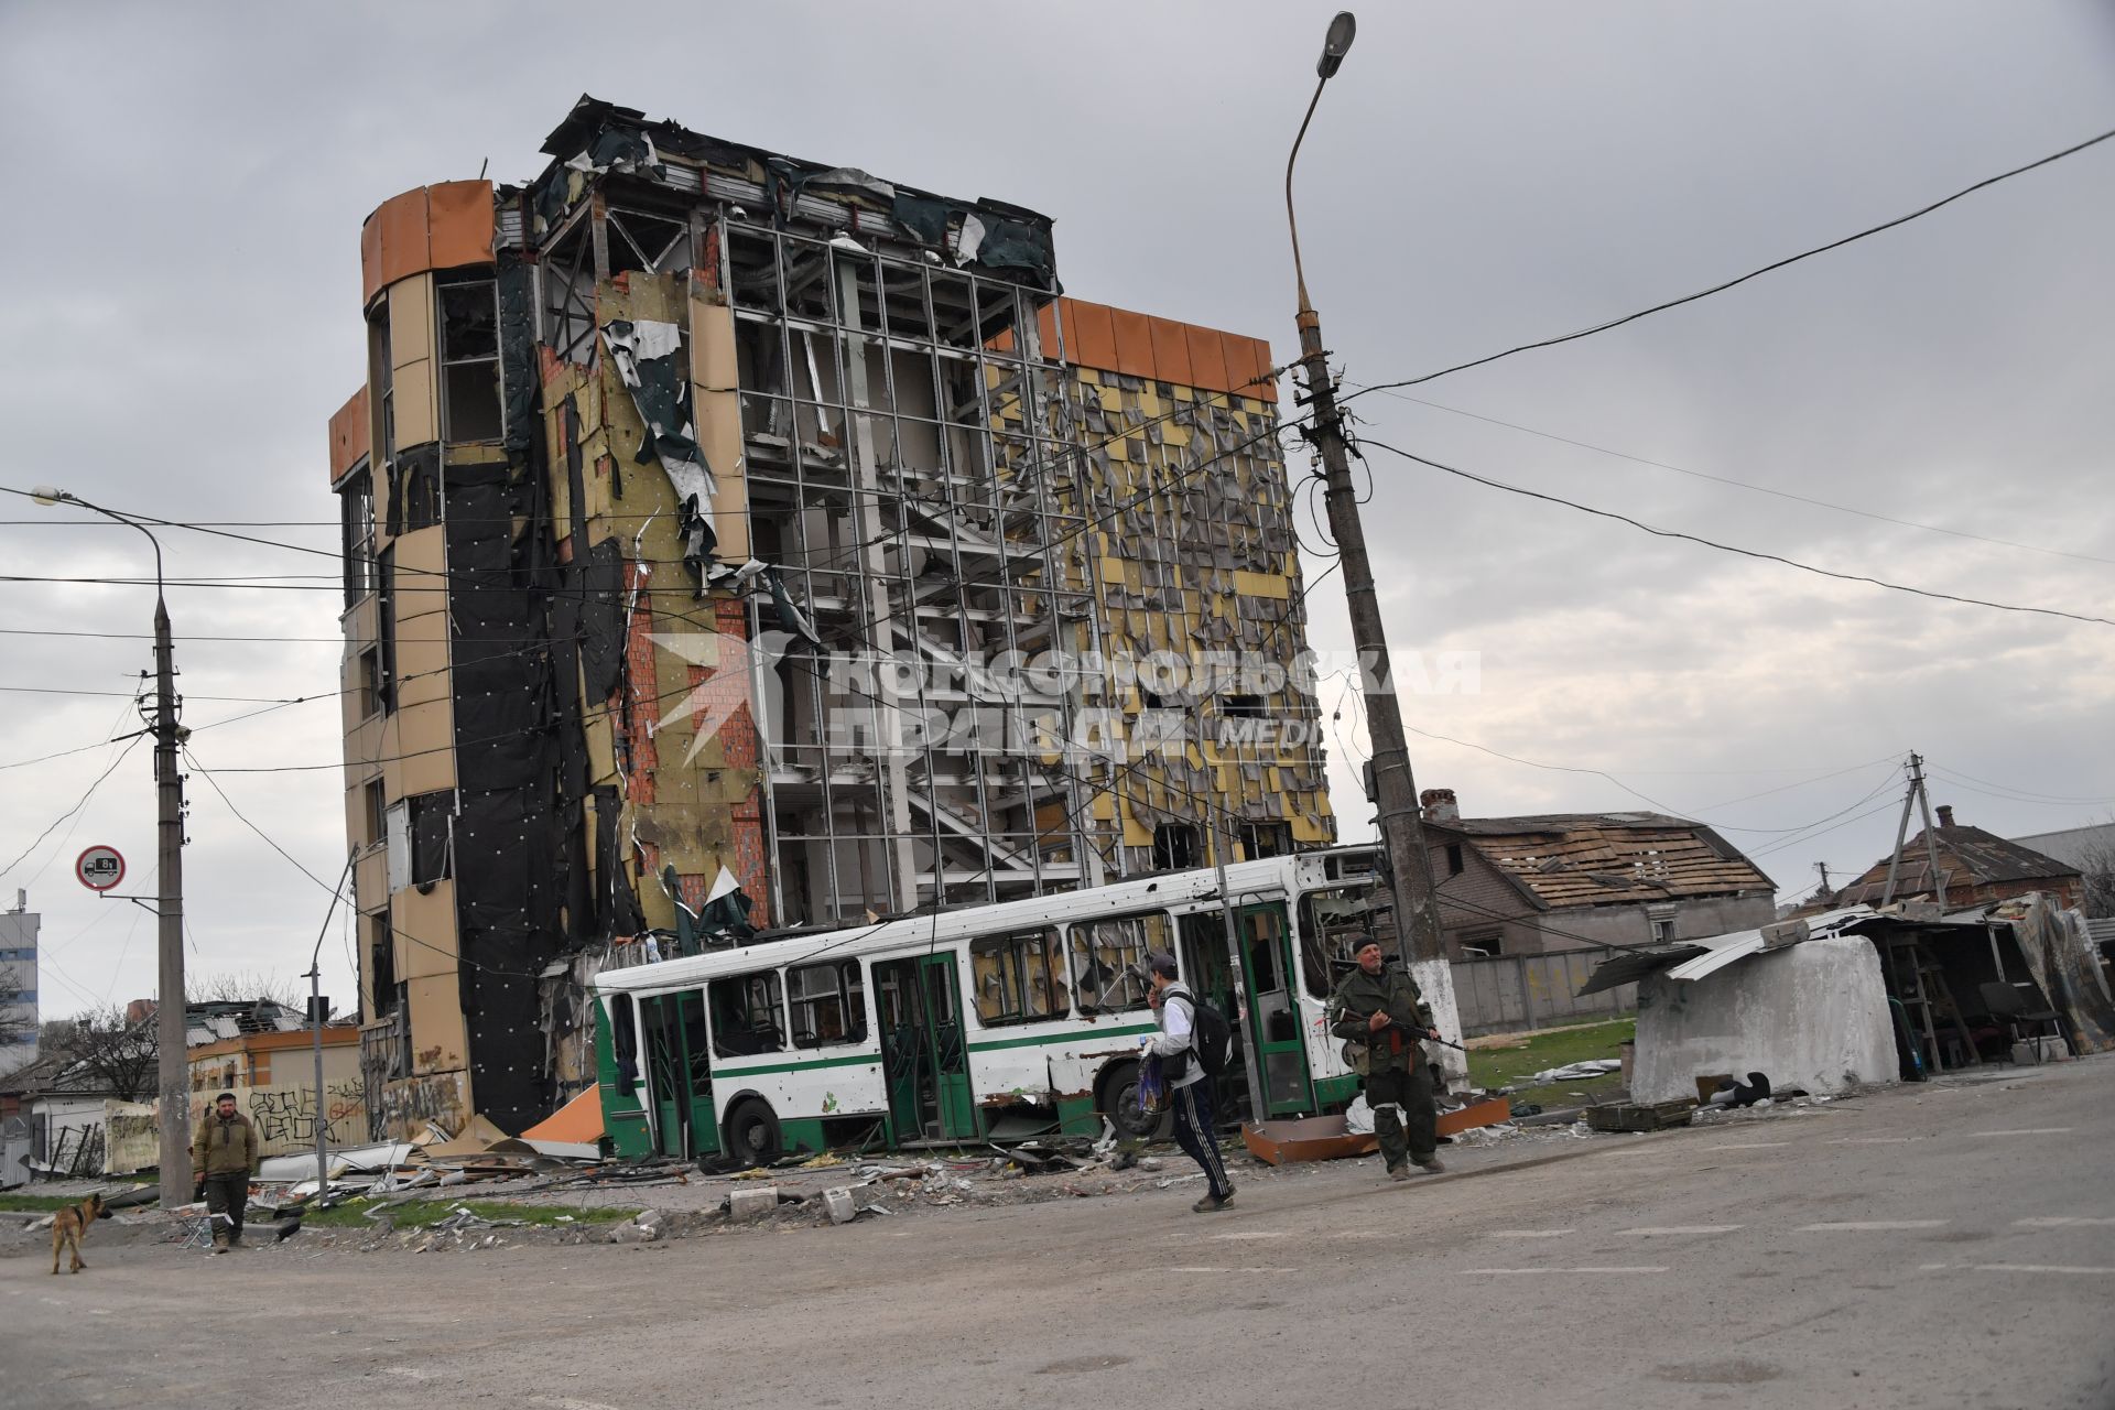
<path fill-rule="evenodd" d="M 1464 818 L 1426 789 L 1449 958 L 1652 945 L 1774 920 L 1777 888 L 1703 822 L 1658 812 Z"/>

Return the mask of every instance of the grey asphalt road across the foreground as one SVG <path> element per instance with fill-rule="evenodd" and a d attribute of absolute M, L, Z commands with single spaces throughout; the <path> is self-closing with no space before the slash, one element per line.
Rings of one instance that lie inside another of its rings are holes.
<path fill-rule="evenodd" d="M 2115 1059 L 1191 1216 L 0 1260 L 0 1404 L 2115 1406 Z"/>

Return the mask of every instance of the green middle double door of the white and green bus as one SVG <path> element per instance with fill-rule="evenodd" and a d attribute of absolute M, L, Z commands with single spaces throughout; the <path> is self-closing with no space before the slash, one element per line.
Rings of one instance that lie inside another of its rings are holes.
<path fill-rule="evenodd" d="M 897 1139 L 977 1135 L 969 1053 L 952 953 L 882 960 L 873 966 L 882 1021 L 882 1074 Z"/>

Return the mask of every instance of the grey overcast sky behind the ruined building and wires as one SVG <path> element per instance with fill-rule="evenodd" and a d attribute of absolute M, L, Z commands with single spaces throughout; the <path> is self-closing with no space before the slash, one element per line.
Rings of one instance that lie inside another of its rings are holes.
<path fill-rule="evenodd" d="M 4 245 L 23 275 L 0 300 L 0 484 L 266 520 L 254 533 L 334 552 L 324 423 L 362 378 L 362 218 L 486 161 L 495 180 L 533 175 L 582 91 L 1047 211 L 1072 294 L 1265 336 L 1284 359 L 1284 154 L 1330 11 L 0 6 Z M 1301 156 L 1309 285 L 1345 376 L 1402 378 L 1686 294 L 2109 127 L 2109 4 L 1368 6 Z M 1354 406 L 1375 440 L 1658 526 L 2115 615 L 2111 228 L 2115 142 L 1694 307 L 1428 383 L 1421 402 Z M 1935 801 L 2001 835 L 2115 812 L 2115 628 L 1827 581 L 1377 450 L 1371 469 L 1398 653 L 1481 660 L 1478 691 L 1413 698 L 1411 723 L 1629 784 L 1413 736 L 1419 782 L 1472 816 L 1650 797 L 1717 824 L 1789 894 L 1817 860 L 1884 854 L 1910 748 L 1939 769 Z M 74 518 L 0 497 L 6 573 L 150 567 L 131 531 Z M 334 581 L 319 556 L 163 543 L 171 577 Z M 1345 647 L 1339 581 L 1309 602 L 1313 645 Z M 140 586 L 0 581 L 15 630 L 146 632 L 150 605 Z M 345 856 L 336 708 L 235 721 L 258 706 L 209 698 L 332 691 L 334 590 L 178 586 L 169 607 L 199 761 L 302 767 L 220 782 L 328 882 Z M 0 636 L 0 765 L 135 729 L 123 693 L 148 662 L 140 638 Z M 1358 746 L 1356 700 L 1343 715 Z M 44 915 L 47 1017 L 154 987 L 152 917 L 70 875 L 108 841 L 131 862 L 123 890 L 152 890 L 146 746 L 32 848 L 121 748 L 0 769 L 0 865 L 27 848 L 0 888 L 30 888 Z M 1345 837 L 1364 837 L 1354 767 L 1330 753 Z M 192 968 L 305 970 L 326 888 L 197 776 L 190 837 Z M 341 913 L 324 943 L 341 1004 L 347 934 Z"/>

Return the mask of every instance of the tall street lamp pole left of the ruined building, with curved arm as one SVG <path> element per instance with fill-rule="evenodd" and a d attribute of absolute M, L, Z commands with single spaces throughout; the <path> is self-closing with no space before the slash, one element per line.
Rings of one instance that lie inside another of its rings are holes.
<path fill-rule="evenodd" d="M 184 1044 L 184 778 L 176 772 L 176 651 L 169 645 L 169 605 L 163 594 L 161 539 L 135 518 L 91 505 L 78 495 L 38 484 L 30 499 L 44 505 L 91 509 L 131 524 L 154 545 L 154 786 L 159 793 L 161 987 L 154 1002 L 154 1046 L 161 1082 L 161 1207 L 190 1203 L 190 1063 Z M 321 1101 L 321 1093 L 317 1093 Z"/>

